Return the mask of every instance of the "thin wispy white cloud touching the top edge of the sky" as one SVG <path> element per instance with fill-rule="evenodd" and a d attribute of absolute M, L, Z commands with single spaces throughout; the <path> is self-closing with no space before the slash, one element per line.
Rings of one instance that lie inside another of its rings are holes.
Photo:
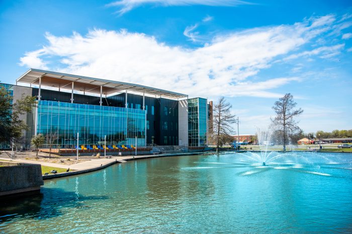
<path fill-rule="evenodd" d="M 252 3 L 240 0 L 120 0 L 110 3 L 107 6 L 119 8 L 118 13 L 122 15 L 145 4 L 161 7 L 190 5 L 235 7 L 238 5 L 248 5 Z"/>

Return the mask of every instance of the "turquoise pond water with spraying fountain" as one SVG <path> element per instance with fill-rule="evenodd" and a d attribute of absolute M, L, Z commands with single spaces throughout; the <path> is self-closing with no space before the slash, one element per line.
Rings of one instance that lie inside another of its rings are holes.
<path fill-rule="evenodd" d="M 0 232 L 352 231 L 352 154 L 252 158 L 147 159 L 45 181 L 39 195 L 2 202 Z"/>

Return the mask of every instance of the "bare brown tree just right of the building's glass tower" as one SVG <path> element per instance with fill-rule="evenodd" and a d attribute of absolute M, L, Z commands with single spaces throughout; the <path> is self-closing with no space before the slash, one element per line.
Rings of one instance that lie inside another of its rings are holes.
<path fill-rule="evenodd" d="M 234 114 L 231 114 L 230 110 L 232 105 L 226 102 L 224 97 L 220 97 L 218 103 L 213 108 L 213 136 L 212 139 L 216 143 L 216 153 L 219 153 L 219 146 L 224 141 L 227 141 L 231 134 L 234 133 L 232 124 L 236 123 Z"/>

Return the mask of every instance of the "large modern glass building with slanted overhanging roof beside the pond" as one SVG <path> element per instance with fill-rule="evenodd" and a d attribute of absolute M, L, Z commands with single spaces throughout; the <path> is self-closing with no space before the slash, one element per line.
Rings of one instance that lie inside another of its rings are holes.
<path fill-rule="evenodd" d="M 25 84 L 25 86 L 18 85 Z M 21 115 L 29 126 L 26 143 L 42 134 L 45 145 L 72 148 L 137 146 L 206 146 L 207 99 L 115 80 L 30 69 L 3 84 L 14 96 L 37 97 L 31 113 Z M 54 140 L 52 140 L 54 138 Z M 44 146 L 45 147 L 45 146 Z"/>

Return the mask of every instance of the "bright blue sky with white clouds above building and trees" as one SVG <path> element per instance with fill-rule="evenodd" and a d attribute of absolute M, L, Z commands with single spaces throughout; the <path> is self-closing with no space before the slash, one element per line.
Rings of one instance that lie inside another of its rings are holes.
<path fill-rule="evenodd" d="M 352 129 L 350 1 L 1 1 L 5 83 L 28 68 L 217 100 L 240 134 L 291 92 L 305 132 Z"/>

